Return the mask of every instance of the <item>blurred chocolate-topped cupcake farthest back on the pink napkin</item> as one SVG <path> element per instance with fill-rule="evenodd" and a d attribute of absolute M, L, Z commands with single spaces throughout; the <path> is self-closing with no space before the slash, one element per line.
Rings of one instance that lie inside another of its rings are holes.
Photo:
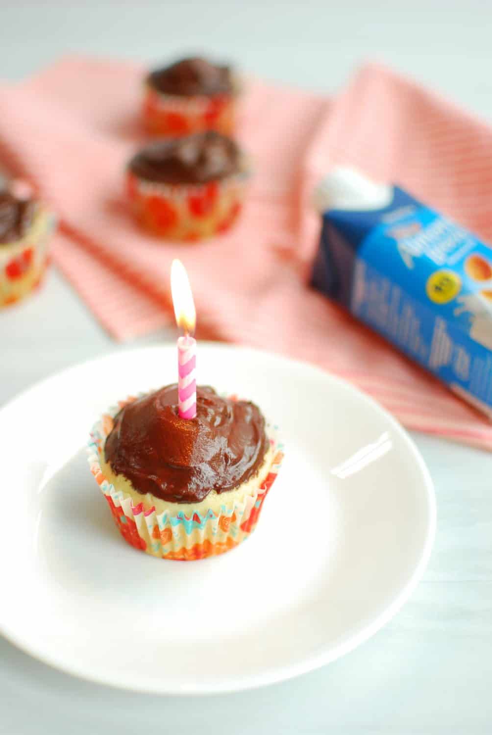
<path fill-rule="evenodd" d="M 234 132 L 235 82 L 228 66 L 183 59 L 146 78 L 143 121 L 155 135 Z"/>

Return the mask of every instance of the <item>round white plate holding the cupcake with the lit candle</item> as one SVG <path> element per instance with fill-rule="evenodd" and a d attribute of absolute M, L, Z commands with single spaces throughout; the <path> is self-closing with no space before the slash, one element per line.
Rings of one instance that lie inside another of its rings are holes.
<path fill-rule="evenodd" d="M 268 684 L 342 656 L 408 598 L 435 531 L 432 482 L 374 401 L 316 368 L 199 344 L 199 382 L 251 398 L 285 460 L 252 537 L 199 562 L 135 551 L 90 475 L 101 412 L 176 379 L 174 346 L 66 370 L 0 412 L 1 623 L 67 672 L 148 692 Z"/>

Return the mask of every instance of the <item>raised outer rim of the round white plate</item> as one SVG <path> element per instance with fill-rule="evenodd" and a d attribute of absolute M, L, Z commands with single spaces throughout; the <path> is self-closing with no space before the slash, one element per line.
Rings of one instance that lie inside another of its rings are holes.
<path fill-rule="evenodd" d="M 120 689 L 122 691 L 139 692 L 154 695 L 213 695 L 220 693 L 225 694 L 232 692 L 242 692 L 249 689 L 257 689 L 260 686 L 267 686 L 268 684 L 277 684 L 281 681 L 288 681 L 288 679 L 294 678 L 304 673 L 308 673 L 310 671 L 317 670 L 320 667 L 332 663 L 332 661 L 335 661 L 342 656 L 345 656 L 346 653 L 349 653 L 350 651 L 360 646 L 363 642 L 366 642 L 366 640 L 374 636 L 377 631 L 384 627 L 384 625 L 386 625 L 386 623 L 388 623 L 396 615 L 396 613 L 399 612 L 400 609 L 402 609 L 402 606 L 404 606 L 404 603 L 407 602 L 407 600 L 410 598 L 410 595 L 412 595 L 414 589 L 416 589 L 418 582 L 421 580 L 424 574 L 424 570 L 427 567 L 430 555 L 432 553 L 432 547 L 435 540 L 435 531 L 437 526 L 437 503 L 435 498 L 435 489 L 432 477 L 429 473 L 429 469 L 424 462 L 423 457 L 421 456 L 421 452 L 418 450 L 418 447 L 413 438 L 410 437 L 410 434 L 408 434 L 407 430 L 404 429 L 402 424 L 399 423 L 399 421 L 396 420 L 396 418 L 393 417 L 393 415 L 391 415 L 391 413 L 388 412 L 387 409 L 379 404 L 378 401 L 372 398 L 371 395 L 368 395 L 367 393 L 360 390 L 358 387 L 355 387 L 346 379 L 330 373 L 329 370 L 324 370 L 323 368 L 318 367 L 318 365 L 313 365 L 310 362 L 300 359 L 293 359 L 289 356 L 274 353 L 268 350 L 260 350 L 243 345 L 215 343 L 201 340 L 200 347 L 201 349 L 206 348 L 207 350 L 210 349 L 217 352 L 234 351 L 235 353 L 242 354 L 244 357 L 260 356 L 263 359 L 274 359 L 279 362 L 286 362 L 289 365 L 294 365 L 298 368 L 313 371 L 319 376 L 322 376 L 324 379 L 331 381 L 332 384 L 343 385 L 343 388 L 345 390 L 349 390 L 349 392 L 352 392 L 358 400 L 363 401 L 363 403 L 365 403 L 367 406 L 370 406 L 371 409 L 374 409 L 376 412 L 379 413 L 379 415 L 384 417 L 385 420 L 388 421 L 388 423 L 391 425 L 391 428 L 396 431 L 397 434 L 399 434 L 399 437 L 406 445 L 407 451 L 410 452 L 410 455 L 416 462 L 418 470 L 421 473 L 421 478 L 426 491 L 428 523 L 426 539 L 421 550 L 418 564 L 416 564 L 412 576 L 407 581 L 407 584 L 404 585 L 399 594 L 396 595 L 396 598 L 388 605 L 388 607 L 386 607 L 385 610 L 372 621 L 372 623 L 366 625 L 366 627 L 363 628 L 362 631 L 359 631 L 359 633 L 350 637 L 348 641 L 342 642 L 341 644 L 335 646 L 334 648 L 332 647 L 329 650 L 321 650 L 319 653 L 307 656 L 302 661 L 297 661 L 295 663 L 279 667 L 266 667 L 265 670 L 261 673 L 237 676 L 232 682 L 219 681 L 218 684 L 210 684 L 205 686 L 187 684 L 179 685 L 173 688 L 172 686 L 165 684 L 165 682 L 163 683 L 162 680 L 156 680 L 154 684 L 152 684 L 151 681 L 144 681 L 143 684 L 129 684 L 129 682 L 121 683 L 121 681 L 108 681 L 107 678 L 104 678 L 104 676 L 102 675 L 99 676 L 97 673 L 89 673 L 84 669 L 84 667 L 78 667 L 76 662 L 72 665 L 67 665 L 65 661 L 57 656 L 56 653 L 54 655 L 50 655 L 38 650 L 37 648 L 33 648 L 32 645 L 29 645 L 29 642 L 26 642 L 25 637 L 13 631 L 11 626 L 8 625 L 8 623 L 6 623 L 4 620 L 0 620 L 0 634 L 3 635 L 8 642 L 12 643 L 17 648 L 24 651 L 24 653 L 27 653 L 29 656 L 32 656 L 32 658 L 40 661 L 42 664 L 54 667 L 55 669 L 60 670 L 65 674 L 80 678 L 84 681 L 90 681 L 92 683 L 110 686 L 113 689 Z M 16 404 L 25 401 L 33 392 L 37 392 L 38 390 L 45 390 L 46 387 L 49 387 L 49 384 L 56 382 L 60 378 L 65 379 L 67 376 L 70 375 L 70 373 L 76 373 L 79 370 L 83 370 L 83 368 L 88 367 L 89 365 L 96 366 L 100 365 L 103 362 L 110 362 L 113 359 L 124 359 L 124 356 L 128 354 L 145 355 L 149 353 L 162 353 L 163 351 L 169 351 L 171 349 L 174 349 L 174 343 L 167 342 L 163 345 L 149 345 L 146 347 L 132 348 L 129 350 L 112 350 L 96 358 L 89 358 L 86 360 L 82 360 L 81 362 L 74 362 L 73 365 L 70 365 L 67 368 L 63 368 L 62 370 L 58 370 L 56 373 L 52 373 L 46 378 L 35 382 L 35 384 L 33 384 L 32 386 L 26 388 L 25 390 L 21 391 L 13 398 L 11 398 L 10 401 L 7 401 L 4 406 L 0 407 L 0 423 L 6 413 L 15 409 Z"/>

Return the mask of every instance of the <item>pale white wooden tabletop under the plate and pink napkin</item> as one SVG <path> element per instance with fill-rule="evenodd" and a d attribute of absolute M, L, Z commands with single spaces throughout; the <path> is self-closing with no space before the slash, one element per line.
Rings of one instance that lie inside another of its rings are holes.
<path fill-rule="evenodd" d="M 68 51 L 155 60 L 209 49 L 254 73 L 332 91 L 357 62 L 379 57 L 492 120 L 485 5 L 88 1 L 68 12 L 61 1 L 3 2 L 1 69 L 17 79 Z M 54 370 L 170 337 L 115 345 L 51 270 L 42 292 L 0 312 L 0 405 Z M 366 644 L 284 684 L 185 699 L 79 681 L 0 639 L 0 734 L 491 734 L 492 456 L 414 438 L 435 481 L 435 549 L 410 602 Z"/>

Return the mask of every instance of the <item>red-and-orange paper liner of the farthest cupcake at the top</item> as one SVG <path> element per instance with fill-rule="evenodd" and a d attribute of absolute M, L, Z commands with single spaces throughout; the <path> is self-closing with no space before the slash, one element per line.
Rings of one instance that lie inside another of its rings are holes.
<path fill-rule="evenodd" d="M 143 122 L 152 135 L 177 137 L 202 130 L 233 135 L 235 93 L 183 97 L 144 87 Z"/>

